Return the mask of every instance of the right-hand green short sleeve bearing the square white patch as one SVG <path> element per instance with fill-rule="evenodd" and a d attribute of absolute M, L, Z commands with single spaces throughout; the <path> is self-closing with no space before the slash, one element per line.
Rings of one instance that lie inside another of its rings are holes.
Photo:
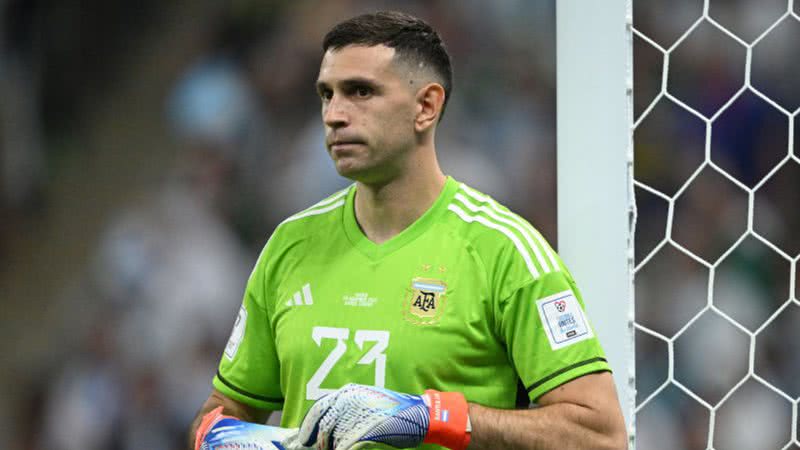
<path fill-rule="evenodd" d="M 499 327 L 531 401 L 582 375 L 610 371 L 581 294 L 563 267 L 502 301 Z"/>

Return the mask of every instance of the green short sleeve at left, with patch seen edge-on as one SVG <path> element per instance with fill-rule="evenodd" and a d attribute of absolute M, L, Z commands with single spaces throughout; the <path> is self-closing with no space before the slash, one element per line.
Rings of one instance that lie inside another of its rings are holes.
<path fill-rule="evenodd" d="M 269 244 L 247 282 L 213 384 L 234 400 L 259 409 L 278 410 L 283 406 L 280 363 L 265 307 L 269 295 L 265 273 L 268 248 Z"/>

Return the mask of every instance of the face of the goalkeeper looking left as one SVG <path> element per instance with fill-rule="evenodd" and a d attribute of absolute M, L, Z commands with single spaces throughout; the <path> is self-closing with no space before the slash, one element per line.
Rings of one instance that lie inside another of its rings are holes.
<path fill-rule="evenodd" d="M 402 170 L 415 145 L 415 86 L 392 48 L 346 46 L 322 58 L 317 92 L 325 144 L 340 175 L 381 183 Z"/>

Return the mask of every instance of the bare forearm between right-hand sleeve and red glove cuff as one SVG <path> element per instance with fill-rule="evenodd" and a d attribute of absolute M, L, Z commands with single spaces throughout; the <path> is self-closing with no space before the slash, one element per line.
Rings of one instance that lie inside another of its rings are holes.
<path fill-rule="evenodd" d="M 609 372 L 584 375 L 542 395 L 539 408 L 499 410 L 470 403 L 469 450 L 627 449 Z"/>

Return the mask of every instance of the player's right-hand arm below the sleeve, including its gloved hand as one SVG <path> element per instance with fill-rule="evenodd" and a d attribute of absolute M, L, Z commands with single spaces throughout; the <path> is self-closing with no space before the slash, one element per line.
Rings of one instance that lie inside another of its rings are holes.
<path fill-rule="evenodd" d="M 467 404 L 456 392 L 409 395 L 348 384 L 316 403 L 300 426 L 306 447 L 349 450 L 434 443 L 457 450 L 623 450 L 625 423 L 611 374 L 592 373 L 540 397 L 533 410 Z M 467 432 L 467 413 L 472 425 Z"/>

